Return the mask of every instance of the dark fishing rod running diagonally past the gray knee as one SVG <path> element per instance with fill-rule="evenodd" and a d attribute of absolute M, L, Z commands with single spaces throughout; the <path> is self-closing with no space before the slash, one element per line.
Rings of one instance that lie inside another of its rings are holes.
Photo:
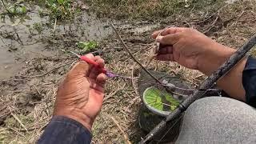
<path fill-rule="evenodd" d="M 166 127 L 167 122 L 171 122 L 174 118 L 178 118 L 182 112 L 184 112 L 193 102 L 197 99 L 202 98 L 206 91 L 214 86 L 214 83 L 218 81 L 219 78 L 222 78 L 225 74 L 227 74 L 238 62 L 242 60 L 246 56 L 246 53 L 254 47 L 256 44 L 256 34 L 246 44 L 244 44 L 240 49 L 238 49 L 231 57 L 222 64 L 218 68 L 218 70 L 214 71 L 213 74 L 210 75 L 200 86 L 198 90 L 194 91 L 190 97 L 186 98 L 184 102 L 182 102 L 176 110 L 171 112 L 162 122 L 158 123 L 158 126 L 155 126 L 153 130 L 150 131 L 149 134 L 146 135 L 145 138 L 142 138 L 140 144 L 144 144 L 150 142 L 155 135 L 159 134 Z"/>

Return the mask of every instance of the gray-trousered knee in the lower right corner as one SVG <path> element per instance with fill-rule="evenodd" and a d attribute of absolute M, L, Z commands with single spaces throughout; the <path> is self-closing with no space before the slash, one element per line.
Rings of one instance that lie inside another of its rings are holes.
<path fill-rule="evenodd" d="M 186 110 L 175 143 L 256 143 L 256 111 L 231 98 L 199 99 Z"/>

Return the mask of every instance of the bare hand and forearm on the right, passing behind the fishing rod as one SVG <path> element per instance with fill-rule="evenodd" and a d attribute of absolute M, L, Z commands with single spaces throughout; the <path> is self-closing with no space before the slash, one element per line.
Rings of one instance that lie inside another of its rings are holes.
<path fill-rule="evenodd" d="M 158 36 L 161 33 L 162 36 Z M 178 62 L 187 68 L 200 70 L 210 76 L 221 66 L 236 50 L 214 42 L 206 35 L 190 28 L 170 27 L 152 34 L 160 42 L 158 60 Z M 242 85 L 242 74 L 246 65 L 243 58 L 224 77 L 220 78 L 217 85 L 225 90 L 231 98 L 246 101 L 245 90 Z"/>

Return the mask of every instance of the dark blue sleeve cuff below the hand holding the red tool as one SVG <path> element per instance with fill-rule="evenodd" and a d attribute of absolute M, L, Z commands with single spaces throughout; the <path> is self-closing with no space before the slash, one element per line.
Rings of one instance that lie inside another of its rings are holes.
<path fill-rule="evenodd" d="M 90 131 L 71 118 L 54 116 L 38 140 L 38 144 L 90 144 Z"/>

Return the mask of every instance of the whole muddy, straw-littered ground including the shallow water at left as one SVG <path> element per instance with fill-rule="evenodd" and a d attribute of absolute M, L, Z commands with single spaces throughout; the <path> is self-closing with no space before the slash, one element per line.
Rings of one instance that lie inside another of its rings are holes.
<path fill-rule="evenodd" d="M 256 33 L 256 2 L 224 2 L 214 12 L 202 11 L 154 20 L 115 20 L 122 38 L 142 64 L 146 64 L 154 40 L 150 34 L 166 26 L 194 27 L 217 42 L 238 48 Z M 0 23 L 0 143 L 34 143 L 49 122 L 59 82 L 77 58 L 65 52 L 81 52 L 76 42 L 95 40 L 109 70 L 132 76 L 138 69 L 109 25 L 87 10 L 69 21 L 40 18 L 33 6 L 24 22 L 5 15 Z M 149 19 L 149 18 L 145 18 Z M 97 51 L 98 51 L 97 50 Z M 252 51 L 253 54 L 254 51 Z M 205 78 L 174 62 L 153 61 L 148 69 L 175 73 L 198 87 Z M 93 143 L 136 143 L 144 135 L 137 114 L 142 102 L 135 81 L 108 79 L 102 111 L 94 122 Z M 123 131 L 123 133 L 122 133 Z"/>

